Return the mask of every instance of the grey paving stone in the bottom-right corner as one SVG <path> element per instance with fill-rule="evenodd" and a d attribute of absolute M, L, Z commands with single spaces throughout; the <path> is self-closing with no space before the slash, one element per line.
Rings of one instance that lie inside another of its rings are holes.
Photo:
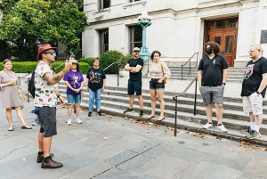
<path fill-rule="evenodd" d="M 247 179 L 255 179 L 255 178 L 267 178 L 267 157 L 257 156 L 255 155 L 247 164 L 244 172 L 242 173 L 242 177 L 246 177 Z"/>

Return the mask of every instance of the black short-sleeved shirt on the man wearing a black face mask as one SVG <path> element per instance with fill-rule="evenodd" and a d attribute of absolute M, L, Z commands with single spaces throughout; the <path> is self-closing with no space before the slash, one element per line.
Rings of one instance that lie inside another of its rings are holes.
<path fill-rule="evenodd" d="M 216 54 L 213 59 L 210 59 L 208 56 L 203 57 L 198 65 L 198 70 L 202 70 L 201 85 L 222 85 L 223 69 L 228 69 L 228 65 L 222 55 Z"/>

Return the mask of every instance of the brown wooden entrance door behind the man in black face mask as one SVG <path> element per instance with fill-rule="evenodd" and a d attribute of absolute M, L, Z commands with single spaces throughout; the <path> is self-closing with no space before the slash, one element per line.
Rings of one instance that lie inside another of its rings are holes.
<path fill-rule="evenodd" d="M 221 54 L 225 57 L 228 66 L 230 67 L 234 66 L 234 60 L 236 58 L 238 33 L 237 22 L 238 19 L 231 19 L 217 21 L 214 20 L 206 23 L 210 26 L 209 29 L 206 30 L 205 42 L 210 41 L 218 43 L 221 46 Z M 218 24 L 221 24 L 221 26 L 219 26 Z"/>

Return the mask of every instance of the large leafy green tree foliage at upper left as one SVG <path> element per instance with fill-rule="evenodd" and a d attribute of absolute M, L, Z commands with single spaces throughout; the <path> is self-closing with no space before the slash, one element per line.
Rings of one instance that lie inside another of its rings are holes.
<path fill-rule="evenodd" d="M 0 24 L 0 40 L 20 55 L 36 58 L 38 44 L 58 42 L 67 45 L 66 53 L 78 53 L 87 18 L 80 12 L 77 0 L 2 0 L 0 9 L 4 20 Z"/>

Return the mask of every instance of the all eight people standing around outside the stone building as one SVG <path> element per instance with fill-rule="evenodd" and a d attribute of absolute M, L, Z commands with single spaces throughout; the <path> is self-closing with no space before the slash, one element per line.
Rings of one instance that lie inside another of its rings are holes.
<path fill-rule="evenodd" d="M 36 114 L 40 122 L 38 134 L 39 151 L 37 153 L 37 163 L 42 163 L 42 168 L 58 168 L 63 165 L 54 161 L 51 150 L 53 135 L 57 134 L 56 128 L 56 105 L 57 102 L 65 103 L 64 98 L 59 93 L 58 83 L 63 78 L 67 85 L 68 99 L 68 125 L 71 124 L 71 113 L 75 108 L 77 112 L 77 123 L 82 123 L 79 118 L 79 105 L 81 103 L 81 91 L 85 85 L 89 91 L 89 112 L 88 117 L 92 116 L 93 104 L 96 104 L 97 114 L 101 116 L 101 92 L 105 89 L 106 75 L 99 67 L 99 59 L 93 59 L 91 67 L 86 75 L 86 82 L 79 70 L 76 60 L 69 58 L 65 61 L 64 69 L 55 73 L 52 63 L 56 57 L 56 47 L 49 44 L 41 45 L 38 48 L 36 59 L 38 61 L 35 71 L 36 98 L 34 105 Z M 198 65 L 198 85 L 206 105 L 207 123 L 203 128 L 213 127 L 212 103 L 215 105 L 217 117 L 217 129 L 227 132 L 223 126 L 223 91 L 227 80 L 228 65 L 225 58 L 220 55 L 220 45 L 209 42 L 205 45 L 206 57 L 202 58 Z M 247 63 L 244 80 L 242 83 L 241 96 L 243 97 L 243 107 L 245 113 L 249 114 L 250 127 L 242 130 L 242 133 L 249 134 L 249 138 L 260 137 L 260 126 L 263 121 L 263 98 L 267 85 L 267 59 L 262 56 L 261 45 L 251 45 L 249 55 L 252 59 Z M 134 93 L 138 97 L 140 106 L 140 117 L 144 115 L 142 99 L 142 67 L 143 60 L 140 58 L 140 49 L 134 47 L 134 59 L 125 65 L 125 70 L 129 71 L 127 94 L 129 95 L 129 108 L 125 113 L 134 112 Z M 151 112 L 148 119 L 156 118 L 156 97 L 160 106 L 158 120 L 165 119 L 164 110 L 164 89 L 166 79 L 171 72 L 164 61 L 160 61 L 161 53 L 154 51 L 151 53 L 148 77 L 150 78 L 150 99 Z M 17 111 L 22 129 L 31 129 L 25 124 L 22 114 L 22 94 L 18 77 L 12 72 L 12 61 L 4 60 L 4 69 L 0 71 L 0 107 L 6 109 L 6 118 L 9 123 L 8 130 L 12 131 L 12 109 Z"/>

